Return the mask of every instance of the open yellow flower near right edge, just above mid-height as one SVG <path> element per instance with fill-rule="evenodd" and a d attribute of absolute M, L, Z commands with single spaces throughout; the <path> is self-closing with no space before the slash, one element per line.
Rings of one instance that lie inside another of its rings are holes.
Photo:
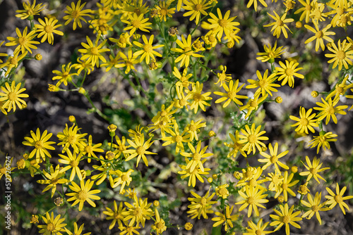
<path fill-rule="evenodd" d="M 326 102 L 323 98 L 321 98 L 321 101 L 323 101 L 323 103 L 316 102 L 316 105 L 320 107 L 313 107 L 313 109 L 320 111 L 320 113 L 316 115 L 316 118 L 318 118 L 318 121 L 321 121 L 324 118 L 326 118 L 325 125 L 328 125 L 328 122 L 330 122 L 331 118 L 333 119 L 333 122 L 337 124 L 337 118 L 335 115 L 336 113 L 341 115 L 347 114 L 345 111 L 343 111 L 343 109 L 348 108 L 348 106 L 335 107 L 338 101 L 340 101 L 340 97 L 337 97 L 334 100 L 328 99 L 328 102 Z"/>

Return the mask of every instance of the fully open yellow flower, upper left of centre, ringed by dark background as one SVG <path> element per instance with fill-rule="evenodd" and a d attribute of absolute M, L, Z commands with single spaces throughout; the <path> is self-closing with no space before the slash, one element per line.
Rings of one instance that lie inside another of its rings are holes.
<path fill-rule="evenodd" d="M 137 41 L 133 41 L 133 44 L 135 44 L 136 46 L 140 47 L 142 50 L 140 51 L 136 51 L 135 53 L 133 53 L 133 56 L 141 56 L 140 58 L 140 62 L 143 61 L 144 58 L 146 58 L 146 63 L 150 63 L 150 58 L 152 58 L 152 60 L 155 60 L 155 56 L 160 56 L 162 57 L 162 55 L 160 53 L 158 53 L 157 51 L 153 51 L 154 49 L 160 48 L 164 45 L 157 45 L 157 46 L 152 46 L 153 44 L 153 39 L 154 39 L 154 35 L 152 34 L 150 36 L 150 39 L 148 40 L 146 38 L 145 35 L 142 35 L 142 39 L 143 42 L 145 43 L 144 45 L 141 44 L 140 42 Z"/>

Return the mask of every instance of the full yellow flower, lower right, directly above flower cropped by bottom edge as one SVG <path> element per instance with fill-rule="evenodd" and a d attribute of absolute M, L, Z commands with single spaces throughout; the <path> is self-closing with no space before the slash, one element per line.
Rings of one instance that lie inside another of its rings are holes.
<path fill-rule="evenodd" d="M 261 189 L 259 191 L 259 186 L 245 186 L 245 192 L 238 191 L 239 195 L 245 200 L 239 201 L 235 203 L 235 205 L 243 204 L 239 208 L 239 211 L 244 210 L 249 205 L 248 217 L 251 216 L 251 212 L 254 211 L 256 216 L 260 216 L 260 212 L 258 211 L 258 207 L 265 208 L 265 206 L 261 205 L 261 203 L 268 203 L 267 199 L 264 199 L 268 194 L 263 194 L 265 190 Z"/>

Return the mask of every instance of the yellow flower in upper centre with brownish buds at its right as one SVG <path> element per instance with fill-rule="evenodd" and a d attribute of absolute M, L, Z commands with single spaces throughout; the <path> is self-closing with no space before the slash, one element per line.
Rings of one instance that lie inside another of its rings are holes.
<path fill-rule="evenodd" d="M 185 39 L 184 35 L 181 35 L 181 40 L 182 42 L 179 39 L 177 39 L 176 41 L 178 46 L 180 46 L 181 48 L 172 48 L 171 51 L 181 53 L 181 55 L 175 60 L 175 63 L 181 61 L 180 67 L 183 67 L 184 65 L 185 67 L 188 67 L 190 63 L 190 56 L 196 58 L 200 58 L 203 56 L 193 52 L 193 49 L 191 48 L 192 44 L 190 34 L 188 35 L 187 39 Z"/>

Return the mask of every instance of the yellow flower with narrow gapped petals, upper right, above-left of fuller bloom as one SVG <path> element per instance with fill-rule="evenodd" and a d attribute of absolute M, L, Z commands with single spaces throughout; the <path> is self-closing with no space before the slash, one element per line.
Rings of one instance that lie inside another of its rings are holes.
<path fill-rule="evenodd" d="M 330 24 L 326 25 L 323 28 L 323 30 L 318 29 L 318 23 L 316 23 L 316 21 L 313 21 L 313 25 L 315 26 L 315 29 L 313 27 L 311 27 L 310 25 L 304 25 L 304 27 L 306 27 L 306 29 L 310 30 L 311 32 L 313 32 L 315 34 L 315 36 L 310 37 L 309 39 L 306 39 L 306 41 L 304 43 L 307 44 L 309 42 L 313 42 L 313 40 L 316 39 L 315 51 L 318 51 L 319 46 L 321 46 L 321 50 L 325 51 L 325 44 L 323 44 L 323 39 L 325 39 L 328 42 L 333 43 L 333 39 L 328 36 L 335 35 L 335 32 L 328 32 L 328 30 L 331 27 Z"/>

